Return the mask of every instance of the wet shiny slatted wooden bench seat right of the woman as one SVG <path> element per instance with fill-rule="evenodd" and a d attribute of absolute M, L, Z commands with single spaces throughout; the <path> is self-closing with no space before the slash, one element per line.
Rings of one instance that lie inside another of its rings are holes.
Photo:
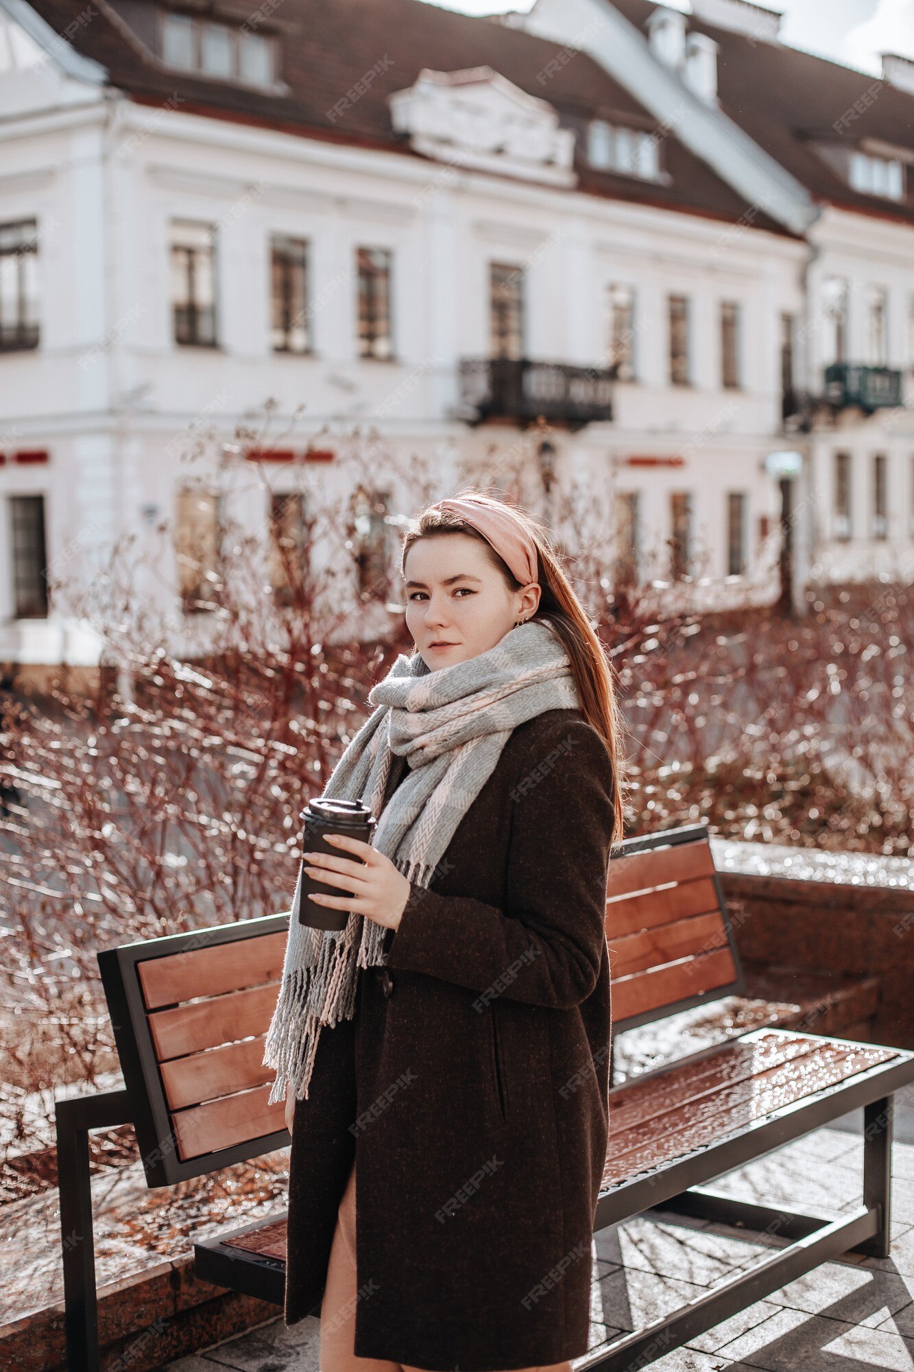
<path fill-rule="evenodd" d="M 649 1121 L 615 1139 L 612 1157 L 604 1170 L 604 1184 L 623 1181 L 685 1157 L 803 1096 L 837 1085 L 858 1072 L 895 1056 L 898 1054 L 891 1048 L 819 1044 L 796 1062 L 769 1067 L 745 1081 L 723 1087 L 704 1102 L 685 1102 L 664 1114 L 661 1129 L 655 1121 Z"/>

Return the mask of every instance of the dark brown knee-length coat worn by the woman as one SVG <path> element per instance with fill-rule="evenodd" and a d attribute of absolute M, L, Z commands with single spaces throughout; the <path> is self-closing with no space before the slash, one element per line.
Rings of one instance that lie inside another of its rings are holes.
<path fill-rule="evenodd" d="M 320 1299 L 355 1157 L 357 1357 L 490 1372 L 586 1351 L 612 830 L 581 712 L 519 724 L 386 966 L 360 973 L 355 1018 L 321 1033 L 292 1131 L 287 1324 Z"/>

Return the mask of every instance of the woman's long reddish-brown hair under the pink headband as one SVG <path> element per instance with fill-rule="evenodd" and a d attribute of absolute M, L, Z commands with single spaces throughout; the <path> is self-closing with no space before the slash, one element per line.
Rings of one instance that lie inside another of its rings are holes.
<path fill-rule="evenodd" d="M 509 504 L 475 488 L 456 494 L 458 497 L 472 495 L 473 499 L 486 501 L 486 504 L 494 506 Z M 597 730 L 609 753 L 615 809 L 612 847 L 616 848 L 622 842 L 624 823 L 626 775 L 622 750 L 622 713 L 619 711 L 613 668 L 590 626 L 583 605 L 561 568 L 560 553 L 553 539 L 528 510 L 513 504 L 511 509 L 523 521 L 537 546 L 537 580 L 541 586 L 541 594 L 539 605 L 528 619 L 546 619 L 553 632 L 561 641 L 571 661 L 578 698 L 581 701 L 581 712 L 587 723 Z M 430 536 L 443 538 L 446 534 L 467 534 L 469 538 L 479 539 L 489 563 L 501 572 L 508 589 L 512 591 L 522 589 L 522 583 L 508 564 L 479 530 L 467 524 L 454 510 L 435 509 L 434 506 L 417 514 L 403 534 L 403 546 L 399 558 L 401 576 L 403 579 L 406 576 L 406 553 L 417 539 Z"/>

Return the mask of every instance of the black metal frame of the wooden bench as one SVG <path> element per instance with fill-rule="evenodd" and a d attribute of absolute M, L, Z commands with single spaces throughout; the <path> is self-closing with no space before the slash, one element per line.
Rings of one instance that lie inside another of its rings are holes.
<path fill-rule="evenodd" d="M 707 825 L 688 825 L 666 830 L 646 838 L 627 840 L 615 856 L 633 856 L 668 844 L 693 842 L 708 837 Z M 719 881 L 714 877 L 726 937 L 737 969 L 737 977 L 710 993 L 683 997 L 659 1013 L 646 1011 L 613 1022 L 613 1039 L 622 1029 L 634 1028 L 696 1004 L 707 1004 L 725 995 L 742 991 L 742 970 L 727 915 L 726 900 Z M 137 989 L 136 963 L 143 958 L 184 952 L 189 948 L 213 947 L 232 938 L 250 938 L 273 933 L 288 925 L 288 915 L 269 915 L 243 921 L 192 934 L 176 934 L 148 940 L 100 952 L 99 966 L 111 1008 L 115 1043 L 124 1069 L 126 1089 L 59 1100 L 56 1103 L 58 1158 L 60 1177 L 60 1232 L 63 1249 L 63 1281 L 66 1306 L 66 1339 L 70 1372 L 99 1372 L 97 1299 L 95 1279 L 95 1247 L 92 1236 L 92 1194 L 89 1185 L 89 1129 L 114 1128 L 133 1124 L 150 1187 L 172 1185 L 187 1177 L 200 1176 L 232 1162 L 261 1157 L 288 1146 L 285 1129 L 253 1139 L 231 1148 L 222 1148 L 183 1162 L 177 1157 L 169 1124 L 158 1063 L 145 1030 L 145 1011 Z M 762 1034 L 785 1033 L 778 1029 L 755 1029 L 734 1036 L 740 1043 L 751 1043 Z M 819 1036 L 804 1034 L 815 1039 Z M 851 1048 L 866 1047 L 856 1040 L 821 1036 L 823 1041 Z M 726 1050 L 714 1044 L 696 1054 L 664 1063 L 653 1072 L 638 1073 L 631 1081 L 609 1088 L 609 1109 L 613 1095 L 620 1095 L 634 1083 L 659 1078 L 685 1062 L 697 1062 Z M 788 1244 L 759 1258 L 744 1269 L 718 1283 L 710 1292 L 690 1301 L 652 1324 L 620 1335 L 608 1345 L 590 1350 L 575 1360 L 576 1369 L 600 1372 L 631 1372 L 645 1367 L 666 1353 L 681 1347 L 689 1339 L 705 1332 L 723 1320 L 744 1310 L 786 1281 L 836 1258 L 855 1251 L 871 1257 L 888 1257 L 891 1225 L 891 1148 L 895 1092 L 914 1083 L 914 1052 L 892 1050 L 896 1056 L 859 1072 L 844 1081 L 822 1088 L 763 1118 L 741 1126 L 708 1147 L 677 1158 L 660 1168 L 634 1176 L 607 1190 L 597 1205 L 594 1232 L 634 1218 L 645 1211 L 663 1211 L 701 1217 L 722 1224 L 738 1225 L 747 1238 L 753 1231 L 769 1231 L 788 1239 Z M 611 1044 L 612 1054 L 612 1044 Z M 612 1061 L 612 1058 L 611 1058 Z M 612 1080 L 612 1078 L 611 1078 Z M 811 1133 L 840 1115 L 863 1109 L 863 1203 L 849 1214 L 810 1216 L 785 1206 L 764 1206 L 737 1200 L 704 1187 L 722 1174 L 762 1158 L 773 1148 Z M 259 1229 L 268 1222 L 284 1218 L 277 1210 L 269 1220 L 257 1220 L 236 1227 L 222 1235 L 198 1239 L 194 1243 L 195 1275 L 218 1287 L 239 1291 L 268 1301 L 280 1309 L 284 1301 L 284 1264 L 262 1254 L 240 1250 L 226 1243 L 229 1238 Z M 320 1309 L 320 1302 L 313 1313 Z"/>

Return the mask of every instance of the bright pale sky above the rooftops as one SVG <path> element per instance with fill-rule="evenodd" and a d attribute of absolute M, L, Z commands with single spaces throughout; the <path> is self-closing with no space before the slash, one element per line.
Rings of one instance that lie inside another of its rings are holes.
<path fill-rule="evenodd" d="M 435 0 L 465 14 L 530 10 L 532 0 Z M 865 71 L 880 71 L 880 52 L 914 58 L 914 0 L 762 0 L 784 11 L 781 37 Z M 689 10 L 689 0 L 667 0 Z"/>

